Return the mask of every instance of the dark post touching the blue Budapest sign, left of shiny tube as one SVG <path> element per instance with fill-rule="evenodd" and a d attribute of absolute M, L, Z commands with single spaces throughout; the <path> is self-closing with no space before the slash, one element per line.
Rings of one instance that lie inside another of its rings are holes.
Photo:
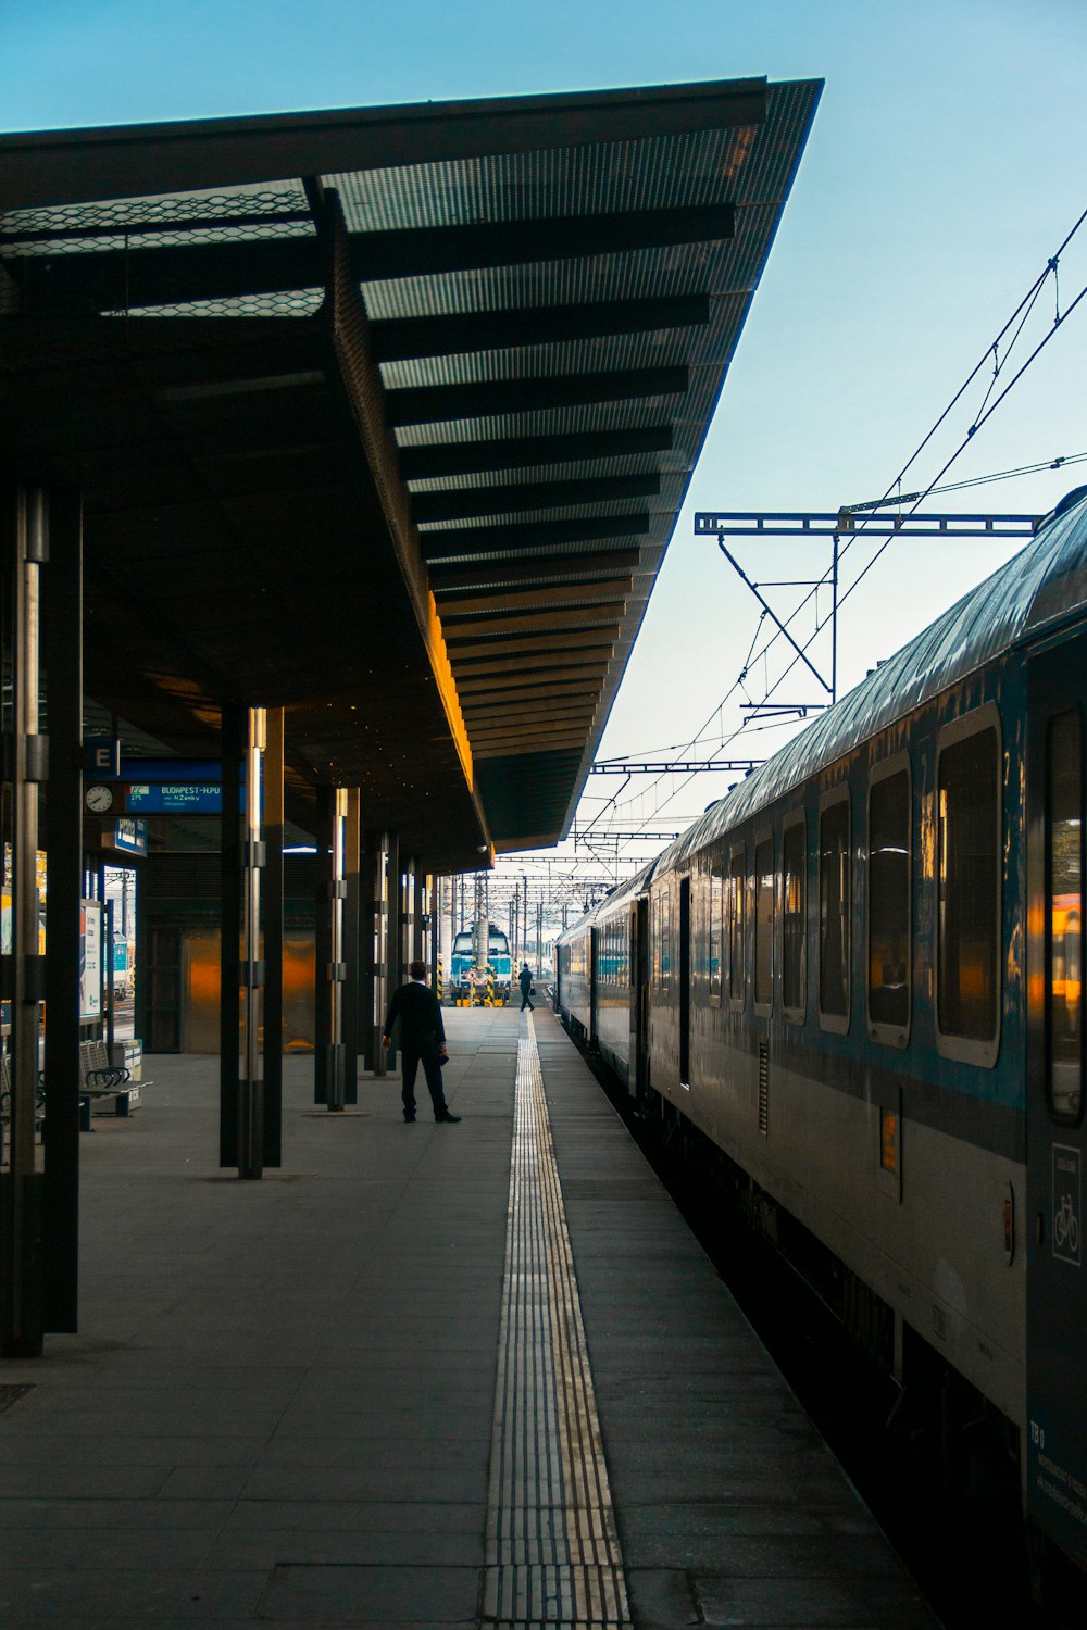
<path fill-rule="evenodd" d="M 241 758 L 246 711 L 223 706 L 220 820 L 220 952 L 218 952 L 218 1164 L 238 1165 L 238 1104 L 241 1094 Z"/>

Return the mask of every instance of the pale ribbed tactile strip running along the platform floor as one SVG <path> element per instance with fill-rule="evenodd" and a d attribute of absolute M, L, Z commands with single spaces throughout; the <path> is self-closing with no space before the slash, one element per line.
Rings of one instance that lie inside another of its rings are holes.
<path fill-rule="evenodd" d="M 531 1012 L 517 1045 L 484 1625 L 629 1630 Z"/>

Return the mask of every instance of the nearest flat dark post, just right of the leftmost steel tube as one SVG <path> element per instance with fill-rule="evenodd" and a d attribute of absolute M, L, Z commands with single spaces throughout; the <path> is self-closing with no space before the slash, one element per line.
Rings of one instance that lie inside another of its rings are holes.
<path fill-rule="evenodd" d="M 44 1309 L 46 1330 L 78 1328 L 80 898 L 83 892 L 83 502 L 49 497 L 46 577 L 49 800 L 46 848 Z M 111 941 L 108 939 L 109 945 Z M 109 967 L 109 962 L 106 963 Z M 112 980 L 109 981 L 112 986 Z"/>

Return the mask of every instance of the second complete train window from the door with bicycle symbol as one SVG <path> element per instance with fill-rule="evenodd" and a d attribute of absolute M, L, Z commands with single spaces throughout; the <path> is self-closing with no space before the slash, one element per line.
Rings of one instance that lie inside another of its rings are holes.
<path fill-rule="evenodd" d="M 909 766 L 880 766 L 869 787 L 869 1029 L 909 1038 Z"/>

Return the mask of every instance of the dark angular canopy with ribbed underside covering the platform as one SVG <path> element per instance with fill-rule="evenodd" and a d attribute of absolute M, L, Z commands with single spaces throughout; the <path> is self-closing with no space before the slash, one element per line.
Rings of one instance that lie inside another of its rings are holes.
<path fill-rule="evenodd" d="M 78 482 L 86 691 L 287 707 L 430 870 L 569 830 L 820 93 L 0 137 L 0 460 Z M 486 862 L 484 862 L 486 864 Z"/>

